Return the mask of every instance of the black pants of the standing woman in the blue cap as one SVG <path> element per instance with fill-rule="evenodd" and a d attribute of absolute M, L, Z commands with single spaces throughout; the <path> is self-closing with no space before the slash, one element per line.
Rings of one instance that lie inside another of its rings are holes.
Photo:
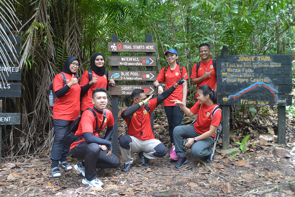
<path fill-rule="evenodd" d="M 173 129 L 181 125 L 184 112 L 180 111 L 180 106 L 164 106 L 164 109 L 167 116 L 171 144 L 173 144 Z"/>

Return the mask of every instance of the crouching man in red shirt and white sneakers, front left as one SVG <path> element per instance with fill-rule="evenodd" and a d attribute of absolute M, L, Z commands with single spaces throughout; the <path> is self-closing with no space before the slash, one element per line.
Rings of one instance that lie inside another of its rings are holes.
<path fill-rule="evenodd" d="M 102 124 L 100 131 L 107 126 L 104 138 L 96 132 L 96 120 L 92 111 L 85 110 L 75 135 L 83 135 L 78 142 L 71 144 L 73 157 L 83 159 L 74 168 L 80 172 L 84 179 L 82 183 L 91 187 L 102 187 L 104 184 L 97 178 L 96 168 L 117 168 L 120 159 L 112 154 L 112 143 L 109 142 L 114 129 L 114 117 L 106 108 L 108 103 L 105 88 L 96 88 L 92 93 L 92 103 L 97 116 L 97 128 Z M 104 111 L 105 110 L 105 115 Z"/>

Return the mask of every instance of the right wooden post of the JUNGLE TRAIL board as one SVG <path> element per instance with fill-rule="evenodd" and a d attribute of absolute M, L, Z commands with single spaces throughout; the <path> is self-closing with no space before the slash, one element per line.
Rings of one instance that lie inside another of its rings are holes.
<path fill-rule="evenodd" d="M 285 42 L 277 43 L 277 53 L 285 54 Z M 286 143 L 286 106 L 278 106 L 278 144 Z"/>

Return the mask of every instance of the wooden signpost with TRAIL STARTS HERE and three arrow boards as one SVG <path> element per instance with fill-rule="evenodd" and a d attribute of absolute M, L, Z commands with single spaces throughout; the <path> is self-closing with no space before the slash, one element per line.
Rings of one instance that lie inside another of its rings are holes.
<path fill-rule="evenodd" d="M 140 88 L 145 91 L 146 95 L 156 94 L 153 81 L 156 79 L 156 72 L 153 71 L 153 66 L 156 65 L 156 58 L 152 57 L 153 52 L 156 52 L 153 36 L 146 33 L 145 43 L 141 42 L 118 42 L 118 36 L 112 34 L 112 42 L 108 43 L 108 51 L 112 52 L 109 57 L 109 66 L 112 66 L 112 71 L 109 71 L 109 80 L 117 78 L 115 86 L 109 86 L 109 95 L 112 95 L 112 114 L 114 116 L 114 131 L 118 131 L 118 95 L 131 95 L 135 88 Z M 146 52 L 144 57 L 127 57 L 118 56 L 118 52 Z M 146 66 L 146 71 L 118 71 L 119 66 Z M 118 81 L 147 81 L 146 86 L 119 86 Z M 130 97 L 131 98 L 131 97 Z M 151 125 L 153 129 L 153 113 L 151 114 Z M 118 132 L 112 134 L 112 146 L 118 147 Z M 112 153 L 118 156 L 118 150 L 113 149 Z"/>

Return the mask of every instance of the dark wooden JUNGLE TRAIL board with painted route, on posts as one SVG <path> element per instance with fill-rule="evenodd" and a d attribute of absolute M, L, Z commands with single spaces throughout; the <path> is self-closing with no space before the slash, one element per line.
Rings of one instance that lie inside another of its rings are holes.
<path fill-rule="evenodd" d="M 217 56 L 217 103 L 222 105 L 222 149 L 229 149 L 228 105 L 292 104 L 291 55 Z M 286 119 L 278 115 L 278 119 Z M 228 127 L 228 128 L 227 128 Z M 285 139 L 283 129 L 278 129 Z M 279 144 L 285 143 L 278 140 Z"/>

